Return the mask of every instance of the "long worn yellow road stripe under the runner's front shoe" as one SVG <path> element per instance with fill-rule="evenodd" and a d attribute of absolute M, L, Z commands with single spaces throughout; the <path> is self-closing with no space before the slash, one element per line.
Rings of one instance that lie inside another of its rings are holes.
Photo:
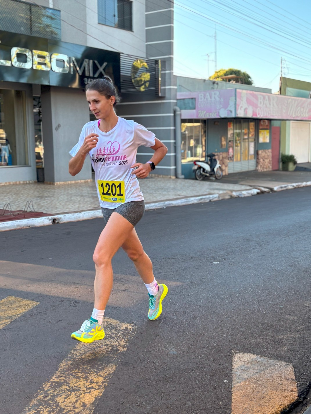
<path fill-rule="evenodd" d="M 109 318 L 104 321 L 104 339 L 92 344 L 78 342 L 22 414 L 93 412 L 95 400 L 104 392 L 121 354 L 135 333 L 134 325 Z M 57 338 L 52 337 L 51 340 L 56 341 Z"/>

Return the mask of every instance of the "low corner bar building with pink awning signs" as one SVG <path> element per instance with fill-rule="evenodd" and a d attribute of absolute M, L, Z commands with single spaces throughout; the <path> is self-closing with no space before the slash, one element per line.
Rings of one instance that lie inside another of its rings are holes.
<path fill-rule="evenodd" d="M 193 161 L 211 152 L 224 174 L 279 169 L 282 120 L 299 125 L 311 120 L 310 99 L 239 87 L 177 92 L 186 178 L 193 176 Z M 304 143 L 303 147 L 309 150 Z"/>

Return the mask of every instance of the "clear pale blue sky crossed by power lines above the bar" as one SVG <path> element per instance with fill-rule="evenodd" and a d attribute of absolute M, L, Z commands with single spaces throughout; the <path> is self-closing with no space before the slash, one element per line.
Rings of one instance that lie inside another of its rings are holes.
<path fill-rule="evenodd" d="M 282 57 L 283 76 L 311 82 L 310 16 L 307 0 L 176 0 L 174 73 L 199 78 L 214 73 L 216 28 L 217 70 L 241 69 L 255 86 L 275 92 Z"/>

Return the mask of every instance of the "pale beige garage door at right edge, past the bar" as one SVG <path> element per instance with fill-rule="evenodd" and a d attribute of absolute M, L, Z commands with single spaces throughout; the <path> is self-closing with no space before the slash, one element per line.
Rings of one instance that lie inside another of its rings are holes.
<path fill-rule="evenodd" d="M 310 161 L 310 123 L 291 122 L 290 153 L 298 162 Z"/>

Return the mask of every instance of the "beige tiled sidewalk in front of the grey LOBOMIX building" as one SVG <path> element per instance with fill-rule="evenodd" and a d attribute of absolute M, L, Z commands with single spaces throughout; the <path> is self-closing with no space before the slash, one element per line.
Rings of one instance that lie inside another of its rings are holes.
<path fill-rule="evenodd" d="M 223 194 L 251 189 L 248 185 L 221 181 L 178 180 L 151 177 L 139 180 L 145 203 L 186 197 Z M 99 209 L 95 181 L 90 183 L 47 185 L 44 183 L 0 185 L 0 209 L 10 203 L 12 210 L 33 202 L 37 212 L 59 214 Z"/>

